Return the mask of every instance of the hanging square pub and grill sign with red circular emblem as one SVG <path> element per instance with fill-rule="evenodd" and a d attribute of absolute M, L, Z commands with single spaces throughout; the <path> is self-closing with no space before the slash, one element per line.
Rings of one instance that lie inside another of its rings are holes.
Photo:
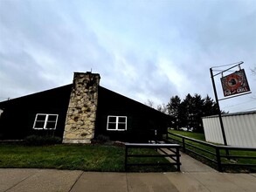
<path fill-rule="evenodd" d="M 250 92 L 244 69 L 222 77 L 220 80 L 225 97 Z"/>

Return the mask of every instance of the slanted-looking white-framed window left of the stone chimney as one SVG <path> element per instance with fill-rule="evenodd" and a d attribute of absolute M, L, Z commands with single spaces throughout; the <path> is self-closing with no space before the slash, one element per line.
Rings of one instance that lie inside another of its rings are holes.
<path fill-rule="evenodd" d="M 56 129 L 58 114 L 38 113 L 34 122 L 34 129 Z"/>

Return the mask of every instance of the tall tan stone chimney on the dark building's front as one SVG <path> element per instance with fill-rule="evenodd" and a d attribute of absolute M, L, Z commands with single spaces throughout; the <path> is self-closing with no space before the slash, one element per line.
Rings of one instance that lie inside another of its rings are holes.
<path fill-rule="evenodd" d="M 74 72 L 63 143 L 90 143 L 94 136 L 100 74 Z"/>

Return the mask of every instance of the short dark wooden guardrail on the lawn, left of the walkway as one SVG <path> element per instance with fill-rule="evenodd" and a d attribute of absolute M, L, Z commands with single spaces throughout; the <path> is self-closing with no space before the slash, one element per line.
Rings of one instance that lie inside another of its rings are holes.
<path fill-rule="evenodd" d="M 129 154 L 129 148 L 155 148 L 162 152 L 162 154 Z M 177 171 L 180 171 L 180 145 L 178 144 L 151 144 L 151 143 L 126 143 L 125 144 L 125 170 L 128 166 L 156 166 L 156 165 L 175 165 Z M 165 150 L 163 150 L 165 149 Z M 129 157 L 170 157 L 172 161 L 169 163 L 128 163 Z"/>

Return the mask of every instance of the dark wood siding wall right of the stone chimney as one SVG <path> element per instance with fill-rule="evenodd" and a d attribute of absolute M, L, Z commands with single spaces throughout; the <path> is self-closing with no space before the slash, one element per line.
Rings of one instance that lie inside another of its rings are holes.
<path fill-rule="evenodd" d="M 108 131 L 108 115 L 127 116 L 127 131 Z M 99 86 L 95 138 L 102 134 L 111 140 L 146 142 L 155 130 L 159 137 L 166 134 L 169 123 L 169 115 Z"/>

